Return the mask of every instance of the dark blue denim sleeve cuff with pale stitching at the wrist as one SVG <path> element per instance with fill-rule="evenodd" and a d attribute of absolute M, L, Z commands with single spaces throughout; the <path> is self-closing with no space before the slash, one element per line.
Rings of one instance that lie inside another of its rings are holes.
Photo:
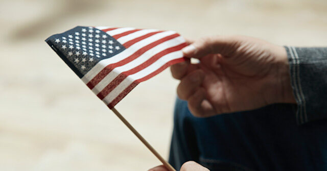
<path fill-rule="evenodd" d="M 327 118 L 327 47 L 285 46 L 297 123 Z"/>

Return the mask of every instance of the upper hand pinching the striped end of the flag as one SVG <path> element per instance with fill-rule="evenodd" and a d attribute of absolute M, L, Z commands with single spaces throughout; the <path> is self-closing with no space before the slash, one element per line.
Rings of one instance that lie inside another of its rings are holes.
<path fill-rule="evenodd" d="M 252 110 L 273 103 L 295 103 L 283 46 L 245 36 L 188 41 L 186 58 L 171 67 L 177 94 L 195 116 Z"/>

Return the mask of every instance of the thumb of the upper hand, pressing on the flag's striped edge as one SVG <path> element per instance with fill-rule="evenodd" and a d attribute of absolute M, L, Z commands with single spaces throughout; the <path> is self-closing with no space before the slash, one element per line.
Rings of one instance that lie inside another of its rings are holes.
<path fill-rule="evenodd" d="M 182 52 L 185 57 L 201 58 L 208 54 L 228 55 L 236 48 L 237 39 L 231 36 L 214 36 L 201 38 L 184 47 Z"/>

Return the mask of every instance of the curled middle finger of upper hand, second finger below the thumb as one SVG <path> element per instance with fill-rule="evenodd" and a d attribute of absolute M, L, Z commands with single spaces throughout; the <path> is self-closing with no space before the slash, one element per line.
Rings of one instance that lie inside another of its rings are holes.
<path fill-rule="evenodd" d="M 177 87 L 177 95 L 182 100 L 188 100 L 194 94 L 197 88 L 200 87 L 204 79 L 204 72 L 200 69 L 186 75 Z"/>

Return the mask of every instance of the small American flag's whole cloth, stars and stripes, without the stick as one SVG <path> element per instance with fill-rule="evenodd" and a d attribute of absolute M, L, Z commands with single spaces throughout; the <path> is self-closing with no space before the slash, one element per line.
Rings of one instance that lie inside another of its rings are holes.
<path fill-rule="evenodd" d="M 111 109 L 138 83 L 185 59 L 174 31 L 76 27 L 45 40 Z"/>

